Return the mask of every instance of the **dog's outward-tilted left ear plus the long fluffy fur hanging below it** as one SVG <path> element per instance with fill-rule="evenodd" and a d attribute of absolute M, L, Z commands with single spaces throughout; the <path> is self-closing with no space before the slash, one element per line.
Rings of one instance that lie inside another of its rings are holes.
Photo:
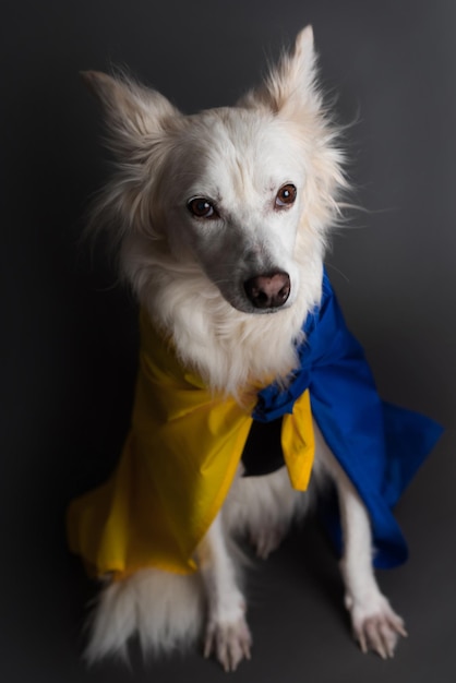
<path fill-rule="evenodd" d="M 93 205 L 87 231 L 109 230 L 112 247 L 129 230 L 157 237 L 154 181 L 185 118 L 158 92 L 127 77 L 97 71 L 81 75 L 101 104 L 107 144 L 118 161 L 110 182 Z"/>

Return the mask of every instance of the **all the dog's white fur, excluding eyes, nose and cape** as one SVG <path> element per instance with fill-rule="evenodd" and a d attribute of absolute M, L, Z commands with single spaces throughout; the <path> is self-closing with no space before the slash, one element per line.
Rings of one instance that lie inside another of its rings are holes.
<path fill-rule="evenodd" d="M 233 108 L 184 117 L 125 79 L 85 77 L 103 104 L 118 159 L 92 226 L 109 230 L 139 300 L 214 391 L 241 399 L 247 381 L 286 382 L 302 321 L 321 298 L 327 232 L 346 185 L 337 130 L 315 85 L 311 29 Z M 276 196 L 286 183 L 297 199 L 284 208 Z M 193 197 L 207 199 L 215 213 L 195 218 L 188 208 Z M 288 299 L 274 311 L 259 310 L 243 284 L 278 272 L 289 277 Z M 375 583 L 368 515 L 316 433 L 313 480 L 326 474 L 339 493 L 355 635 L 362 649 L 391 656 L 404 625 Z M 88 660 L 124 655 L 135 634 L 146 651 L 168 651 L 205 630 L 205 655 L 236 669 L 250 657 L 251 635 L 231 539 L 244 534 L 266 556 L 308 504 L 285 469 L 237 477 L 197 549 L 195 576 L 143 570 L 104 588 Z"/>

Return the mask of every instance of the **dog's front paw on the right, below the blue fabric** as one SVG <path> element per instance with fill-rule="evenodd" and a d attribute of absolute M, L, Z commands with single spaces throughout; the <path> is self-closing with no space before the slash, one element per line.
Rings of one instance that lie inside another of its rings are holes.
<path fill-rule="evenodd" d="M 362 602 L 346 599 L 351 613 L 355 638 L 361 650 L 373 650 L 388 659 L 394 657 L 399 636 L 407 637 L 404 620 L 396 614 L 389 602 L 381 594 L 371 596 Z"/>

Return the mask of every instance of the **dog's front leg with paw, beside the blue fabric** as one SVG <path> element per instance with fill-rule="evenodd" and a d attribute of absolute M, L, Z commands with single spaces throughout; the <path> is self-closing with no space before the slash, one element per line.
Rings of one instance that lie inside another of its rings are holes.
<path fill-rule="evenodd" d="M 315 430 L 317 432 L 317 430 Z M 344 537 L 340 562 L 345 582 L 345 604 L 350 612 L 356 639 L 363 652 L 393 657 L 399 635 L 406 636 L 404 621 L 381 592 L 372 566 L 372 534 L 368 512 L 355 487 L 317 432 L 323 463 L 335 480 Z"/>

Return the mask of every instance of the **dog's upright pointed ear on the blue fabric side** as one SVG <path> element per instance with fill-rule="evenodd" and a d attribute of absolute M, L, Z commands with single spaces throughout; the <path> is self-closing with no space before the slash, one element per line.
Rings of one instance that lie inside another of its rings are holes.
<path fill-rule="evenodd" d="M 307 26 L 298 34 L 295 49 L 281 57 L 263 86 L 249 93 L 240 104 L 248 107 L 262 104 L 287 118 L 295 118 L 295 115 L 300 118 L 304 108 L 320 109 L 315 61 L 313 31 L 312 26 Z"/>

